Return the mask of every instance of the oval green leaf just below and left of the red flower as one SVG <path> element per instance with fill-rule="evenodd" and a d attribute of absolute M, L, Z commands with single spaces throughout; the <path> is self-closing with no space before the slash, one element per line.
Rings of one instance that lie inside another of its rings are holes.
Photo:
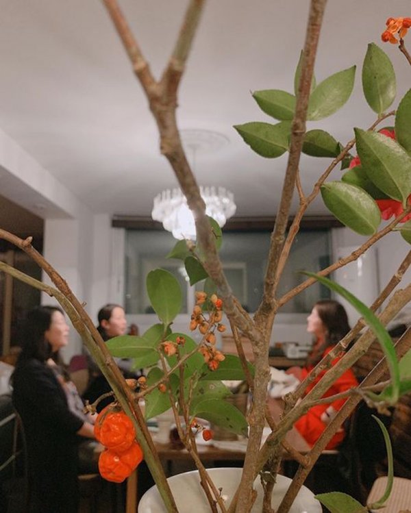
<path fill-rule="evenodd" d="M 321 186 L 325 206 L 338 221 L 360 235 L 372 235 L 381 223 L 381 212 L 368 192 L 344 182 L 327 182 Z"/>

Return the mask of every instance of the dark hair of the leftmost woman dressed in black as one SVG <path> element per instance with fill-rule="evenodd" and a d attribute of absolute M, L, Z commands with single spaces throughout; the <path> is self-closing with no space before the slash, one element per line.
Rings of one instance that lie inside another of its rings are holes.
<path fill-rule="evenodd" d="M 23 350 L 18 358 L 19 362 L 30 358 L 45 362 L 53 355 L 45 332 L 51 325 L 54 312 L 63 314 L 62 309 L 57 306 L 38 306 L 28 312 L 23 327 Z"/>

